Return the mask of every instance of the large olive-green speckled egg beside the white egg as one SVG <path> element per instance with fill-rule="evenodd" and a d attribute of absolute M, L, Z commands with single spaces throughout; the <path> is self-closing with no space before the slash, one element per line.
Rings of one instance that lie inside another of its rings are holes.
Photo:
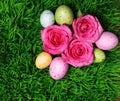
<path fill-rule="evenodd" d="M 55 20 L 57 24 L 71 25 L 73 18 L 74 15 L 71 8 L 66 5 L 59 6 L 55 11 Z"/>

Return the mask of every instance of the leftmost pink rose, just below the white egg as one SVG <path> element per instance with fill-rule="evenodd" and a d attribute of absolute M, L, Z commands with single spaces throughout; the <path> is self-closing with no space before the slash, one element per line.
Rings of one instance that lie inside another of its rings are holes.
<path fill-rule="evenodd" d="M 43 49 L 50 54 L 61 54 L 72 39 L 72 32 L 66 25 L 52 25 L 41 30 Z"/>

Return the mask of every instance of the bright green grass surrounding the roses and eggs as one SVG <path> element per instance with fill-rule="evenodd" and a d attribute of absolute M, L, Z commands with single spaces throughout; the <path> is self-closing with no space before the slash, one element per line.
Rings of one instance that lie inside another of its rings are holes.
<path fill-rule="evenodd" d="M 75 15 L 80 8 L 97 16 L 105 31 L 120 38 L 118 0 L 0 0 L 0 101 L 114 101 L 120 96 L 120 43 L 105 51 L 104 62 L 70 67 L 58 81 L 48 68 L 35 67 L 35 58 L 43 51 L 40 14 L 62 4 Z"/>

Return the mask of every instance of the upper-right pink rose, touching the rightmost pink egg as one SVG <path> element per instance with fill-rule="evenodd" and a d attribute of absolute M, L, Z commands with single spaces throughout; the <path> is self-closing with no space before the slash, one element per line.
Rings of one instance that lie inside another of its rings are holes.
<path fill-rule="evenodd" d="M 92 43 L 97 41 L 103 32 L 97 17 L 89 14 L 75 19 L 72 26 L 75 36 Z"/>

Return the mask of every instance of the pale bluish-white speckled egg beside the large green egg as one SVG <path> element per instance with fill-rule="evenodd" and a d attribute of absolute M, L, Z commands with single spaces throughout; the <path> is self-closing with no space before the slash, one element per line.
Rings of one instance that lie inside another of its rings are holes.
<path fill-rule="evenodd" d="M 55 22 L 55 17 L 52 11 L 45 10 L 41 13 L 40 23 L 43 27 L 48 27 L 50 25 L 53 25 L 54 22 Z"/>

